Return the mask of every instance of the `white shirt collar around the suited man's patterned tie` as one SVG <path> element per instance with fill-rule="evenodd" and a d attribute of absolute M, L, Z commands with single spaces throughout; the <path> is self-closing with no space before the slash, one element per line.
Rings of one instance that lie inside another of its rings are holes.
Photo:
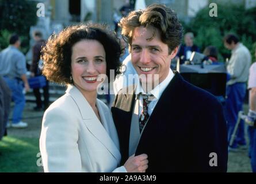
<path fill-rule="evenodd" d="M 173 71 L 171 71 L 171 68 L 170 68 L 169 74 L 167 75 L 165 80 L 163 80 L 161 83 L 159 83 L 159 85 L 156 86 L 153 90 L 148 92 L 148 94 L 154 95 L 156 100 L 158 100 L 161 97 L 163 91 L 169 85 L 171 79 L 173 79 L 173 76 L 174 76 L 174 73 L 173 73 Z M 146 94 L 145 91 L 142 89 L 142 86 L 141 86 L 140 82 L 138 82 L 138 85 L 137 85 L 136 90 L 135 90 L 135 94 L 138 95 L 140 93 Z"/>

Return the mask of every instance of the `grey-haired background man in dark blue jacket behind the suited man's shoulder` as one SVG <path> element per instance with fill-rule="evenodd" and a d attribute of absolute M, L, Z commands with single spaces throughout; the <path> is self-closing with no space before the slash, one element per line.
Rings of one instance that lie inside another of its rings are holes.
<path fill-rule="evenodd" d="M 177 56 L 180 58 L 179 64 L 183 64 L 186 60 L 189 60 L 192 52 L 200 52 L 197 45 L 194 44 L 194 34 L 188 32 L 184 36 L 185 44 L 182 44 L 179 48 Z"/>

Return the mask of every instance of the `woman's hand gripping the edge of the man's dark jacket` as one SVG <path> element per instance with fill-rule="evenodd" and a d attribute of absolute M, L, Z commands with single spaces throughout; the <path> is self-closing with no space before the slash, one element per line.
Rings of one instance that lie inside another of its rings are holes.
<path fill-rule="evenodd" d="M 148 168 L 148 159 L 146 154 L 130 156 L 125 162 L 124 167 L 128 173 L 145 173 Z"/>

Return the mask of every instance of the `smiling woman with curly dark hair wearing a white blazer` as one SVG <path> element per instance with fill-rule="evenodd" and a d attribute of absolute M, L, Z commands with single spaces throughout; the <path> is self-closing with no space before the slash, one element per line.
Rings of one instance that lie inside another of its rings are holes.
<path fill-rule="evenodd" d="M 43 48 L 43 74 L 68 85 L 45 111 L 40 151 L 45 172 L 144 172 L 147 155 L 124 166 L 108 107 L 97 99 L 102 75 L 119 67 L 120 45 L 100 25 L 77 25 L 52 36 Z M 108 77 L 109 78 L 109 77 Z M 117 168 L 118 167 L 118 168 Z"/>

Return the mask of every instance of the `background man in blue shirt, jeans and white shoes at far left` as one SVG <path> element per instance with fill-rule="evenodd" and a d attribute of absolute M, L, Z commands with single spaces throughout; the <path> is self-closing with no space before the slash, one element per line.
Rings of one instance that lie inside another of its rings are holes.
<path fill-rule="evenodd" d="M 29 90 L 28 80 L 26 78 L 26 59 L 20 48 L 20 39 L 17 34 L 13 34 L 9 40 L 9 47 L 1 52 L 0 75 L 12 91 L 12 100 L 14 101 L 12 127 L 28 127 L 26 122 L 22 122 L 22 112 L 25 108 L 25 91 Z"/>

